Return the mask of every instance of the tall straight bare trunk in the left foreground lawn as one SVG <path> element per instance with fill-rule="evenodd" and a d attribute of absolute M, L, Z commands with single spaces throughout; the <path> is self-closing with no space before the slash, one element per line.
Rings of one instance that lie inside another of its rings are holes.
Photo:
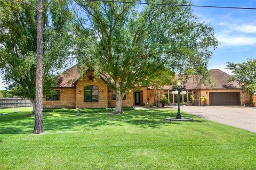
<path fill-rule="evenodd" d="M 38 0 L 37 11 L 37 63 L 36 63 L 36 110 L 34 133 L 43 133 L 43 4 Z"/>

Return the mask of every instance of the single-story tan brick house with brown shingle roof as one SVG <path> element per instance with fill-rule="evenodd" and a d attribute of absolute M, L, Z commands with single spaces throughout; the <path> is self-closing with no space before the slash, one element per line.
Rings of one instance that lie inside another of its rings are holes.
<path fill-rule="evenodd" d="M 93 70 L 87 70 L 86 75 L 80 78 L 77 65 L 61 73 L 57 84 L 52 87 L 51 94 L 44 96 L 44 108 L 101 108 L 115 107 L 115 91 L 108 88 L 105 78 L 99 75 L 96 78 Z M 182 95 L 181 102 L 200 105 L 200 97 L 208 98 L 207 105 L 242 105 L 246 98 L 245 92 L 238 87 L 237 82 L 228 82 L 229 74 L 220 70 L 210 70 L 210 75 L 215 82 L 215 88 L 206 88 L 201 83 L 195 83 L 189 79 L 185 84 L 187 94 Z M 164 86 L 162 95 L 165 95 L 171 103 L 177 103 L 177 95 L 172 95 L 172 88 Z M 150 87 L 136 87 L 135 90 L 126 94 L 122 101 L 123 107 L 153 105 L 153 90 Z M 191 101 L 191 95 L 194 101 Z"/>

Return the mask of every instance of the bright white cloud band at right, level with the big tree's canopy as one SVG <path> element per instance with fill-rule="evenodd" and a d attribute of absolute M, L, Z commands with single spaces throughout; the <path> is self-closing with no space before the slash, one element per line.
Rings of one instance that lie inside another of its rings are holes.
<path fill-rule="evenodd" d="M 217 35 L 221 45 L 224 46 L 241 46 L 241 45 L 256 45 L 256 37 L 236 36 L 236 35 Z"/>

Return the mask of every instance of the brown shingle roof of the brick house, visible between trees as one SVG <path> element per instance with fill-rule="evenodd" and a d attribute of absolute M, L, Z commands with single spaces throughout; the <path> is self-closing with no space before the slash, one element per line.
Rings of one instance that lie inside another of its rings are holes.
<path fill-rule="evenodd" d="M 215 87 L 210 88 L 205 86 L 204 84 L 197 82 L 193 79 L 192 76 L 187 80 L 185 83 L 187 89 L 236 89 L 240 88 L 238 86 L 237 81 L 229 82 L 229 78 L 231 75 L 219 70 L 219 69 L 212 69 L 209 71 L 210 77 L 212 78 Z M 77 65 L 70 67 L 65 72 L 61 73 L 57 77 L 57 84 L 56 87 L 75 87 L 75 83 L 79 79 L 80 75 L 77 70 Z M 101 77 L 101 76 L 100 76 Z M 101 77 L 103 80 L 105 77 Z M 179 79 L 179 75 L 175 75 L 176 79 Z M 150 87 L 149 87 L 150 89 Z M 164 86 L 164 89 L 172 89 L 171 86 Z"/>

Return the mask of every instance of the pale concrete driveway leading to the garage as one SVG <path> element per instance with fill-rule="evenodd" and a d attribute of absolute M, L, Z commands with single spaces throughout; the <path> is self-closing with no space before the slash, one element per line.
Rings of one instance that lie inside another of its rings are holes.
<path fill-rule="evenodd" d="M 181 111 L 256 133 L 256 108 L 243 106 L 181 106 Z"/>

